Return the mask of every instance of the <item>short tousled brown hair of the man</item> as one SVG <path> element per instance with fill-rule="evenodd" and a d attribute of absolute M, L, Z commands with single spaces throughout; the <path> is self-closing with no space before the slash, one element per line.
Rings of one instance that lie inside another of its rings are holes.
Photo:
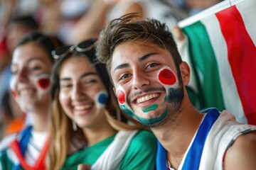
<path fill-rule="evenodd" d="M 112 54 L 115 47 L 122 42 L 133 40 L 149 41 L 171 52 L 176 68 L 179 72 L 181 56 L 176 42 L 165 23 L 156 19 L 138 20 L 136 13 L 128 13 L 121 18 L 114 19 L 101 31 L 99 43 L 96 47 L 97 59 L 107 65 L 110 74 Z"/>

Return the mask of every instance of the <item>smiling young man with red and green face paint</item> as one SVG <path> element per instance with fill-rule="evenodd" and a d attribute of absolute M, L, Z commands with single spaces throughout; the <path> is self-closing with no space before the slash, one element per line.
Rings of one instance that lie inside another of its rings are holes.
<path fill-rule="evenodd" d="M 159 140 L 157 169 L 256 168 L 256 127 L 228 111 L 193 107 L 185 88 L 190 69 L 165 24 L 117 18 L 100 33 L 97 57 L 119 106 Z"/>

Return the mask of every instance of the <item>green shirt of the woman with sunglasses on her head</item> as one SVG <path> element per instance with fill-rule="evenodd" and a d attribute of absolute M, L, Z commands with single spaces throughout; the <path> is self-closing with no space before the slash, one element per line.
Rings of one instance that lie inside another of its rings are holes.
<path fill-rule="evenodd" d="M 94 164 L 105 149 L 113 142 L 115 135 L 91 147 L 75 152 L 67 157 L 62 169 L 78 169 L 78 164 Z M 155 168 L 156 137 L 152 132 L 139 131 L 132 139 L 121 162 L 120 169 L 150 170 Z"/>

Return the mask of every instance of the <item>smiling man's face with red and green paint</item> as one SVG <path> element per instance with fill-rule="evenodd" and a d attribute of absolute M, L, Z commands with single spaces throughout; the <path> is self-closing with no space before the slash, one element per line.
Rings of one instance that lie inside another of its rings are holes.
<path fill-rule="evenodd" d="M 110 74 L 119 106 L 130 118 L 154 127 L 179 111 L 183 85 L 167 50 L 139 40 L 119 44 Z"/>

